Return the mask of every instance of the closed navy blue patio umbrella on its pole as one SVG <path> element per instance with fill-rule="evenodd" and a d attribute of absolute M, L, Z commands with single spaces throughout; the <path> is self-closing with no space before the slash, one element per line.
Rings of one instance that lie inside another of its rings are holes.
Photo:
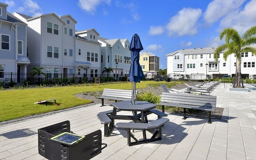
<path fill-rule="evenodd" d="M 136 83 L 140 82 L 144 78 L 142 68 L 140 66 L 140 51 L 143 50 L 143 46 L 140 42 L 140 37 L 137 34 L 132 36 L 132 40 L 129 47 L 131 51 L 132 64 L 129 71 L 129 80 L 132 82 L 132 104 L 135 104 L 136 100 Z"/>

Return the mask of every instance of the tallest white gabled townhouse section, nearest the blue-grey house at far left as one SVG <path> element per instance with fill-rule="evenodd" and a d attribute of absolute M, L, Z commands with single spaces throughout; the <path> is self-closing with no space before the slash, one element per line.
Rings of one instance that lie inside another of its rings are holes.
<path fill-rule="evenodd" d="M 28 72 L 32 67 L 42 67 L 48 78 L 54 73 L 63 73 L 63 26 L 66 23 L 55 13 L 36 17 L 17 12 L 13 15 L 28 24 L 27 52 L 31 61 Z"/>

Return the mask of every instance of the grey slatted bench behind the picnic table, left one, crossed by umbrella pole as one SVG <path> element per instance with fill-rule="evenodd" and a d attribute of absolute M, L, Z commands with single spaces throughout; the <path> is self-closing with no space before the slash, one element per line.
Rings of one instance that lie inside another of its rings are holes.
<path fill-rule="evenodd" d="M 136 94 L 138 91 L 136 91 Z M 131 100 L 132 99 L 132 90 L 117 90 L 117 89 L 108 89 L 104 88 L 102 95 L 100 97 L 102 99 L 102 106 L 104 106 L 104 99 L 115 100 Z"/>

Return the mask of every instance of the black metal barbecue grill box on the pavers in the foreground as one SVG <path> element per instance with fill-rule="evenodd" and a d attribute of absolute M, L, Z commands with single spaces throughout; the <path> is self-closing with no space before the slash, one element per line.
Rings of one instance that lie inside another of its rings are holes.
<path fill-rule="evenodd" d="M 70 122 L 60 122 L 51 126 L 38 129 L 38 153 L 48 160 L 89 160 L 101 153 L 102 134 L 97 130 L 85 136 L 75 144 L 68 145 L 56 142 L 51 138 L 70 132 Z"/>

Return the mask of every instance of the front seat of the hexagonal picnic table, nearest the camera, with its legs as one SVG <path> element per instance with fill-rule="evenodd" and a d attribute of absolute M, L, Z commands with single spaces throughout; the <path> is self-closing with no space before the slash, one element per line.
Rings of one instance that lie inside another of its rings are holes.
<path fill-rule="evenodd" d="M 168 122 L 168 118 L 158 118 L 157 120 L 152 120 L 149 123 L 125 123 L 118 122 L 116 123 L 116 128 L 125 128 L 127 130 L 127 144 L 128 146 L 134 146 L 137 144 L 143 144 L 147 142 L 154 142 L 156 140 L 162 140 L 162 125 Z M 138 140 L 131 133 L 131 129 L 142 129 L 149 130 L 152 128 L 157 128 L 151 138 L 147 139 L 146 133 L 143 133 L 143 140 Z M 135 140 L 135 142 L 131 142 L 131 138 Z"/>

